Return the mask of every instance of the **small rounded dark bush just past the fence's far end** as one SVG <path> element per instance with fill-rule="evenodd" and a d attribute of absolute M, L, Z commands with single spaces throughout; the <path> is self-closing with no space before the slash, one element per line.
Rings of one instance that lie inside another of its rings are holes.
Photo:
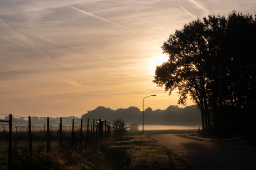
<path fill-rule="evenodd" d="M 116 138 L 120 138 L 124 135 L 126 135 L 127 133 L 127 126 L 125 124 L 125 122 L 122 119 L 117 118 L 116 120 L 114 120 L 114 122 L 112 123 L 112 131 L 113 131 L 113 135 Z"/>

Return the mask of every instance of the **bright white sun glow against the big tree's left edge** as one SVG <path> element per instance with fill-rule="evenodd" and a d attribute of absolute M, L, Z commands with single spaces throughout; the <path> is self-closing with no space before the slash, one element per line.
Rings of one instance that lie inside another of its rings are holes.
<path fill-rule="evenodd" d="M 168 59 L 169 56 L 166 54 L 157 55 L 149 59 L 149 73 L 151 75 L 155 75 L 156 66 L 163 64 L 164 62 L 168 61 Z"/>

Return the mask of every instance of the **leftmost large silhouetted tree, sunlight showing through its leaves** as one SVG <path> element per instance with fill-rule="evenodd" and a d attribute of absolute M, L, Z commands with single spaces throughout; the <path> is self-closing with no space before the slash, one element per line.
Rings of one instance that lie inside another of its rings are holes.
<path fill-rule="evenodd" d="M 186 105 L 187 95 L 190 95 L 201 110 L 203 128 L 208 128 L 210 116 L 206 86 L 209 80 L 204 68 L 204 58 L 208 50 L 204 36 L 205 27 L 198 19 L 170 35 L 162 47 L 164 53 L 170 56 L 169 60 L 157 66 L 153 82 L 157 86 L 165 86 L 169 94 L 178 89 L 178 104 Z"/>

